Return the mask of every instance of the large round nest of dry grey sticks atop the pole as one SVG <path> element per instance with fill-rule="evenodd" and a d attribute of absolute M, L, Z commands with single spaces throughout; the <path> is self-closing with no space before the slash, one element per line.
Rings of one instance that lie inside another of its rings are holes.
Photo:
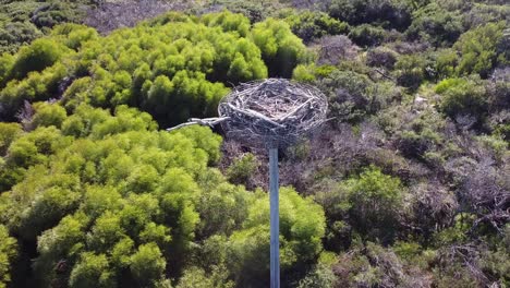
<path fill-rule="evenodd" d="M 298 141 L 326 121 L 327 110 L 320 91 L 283 79 L 241 84 L 218 107 L 228 137 L 264 147 Z"/>

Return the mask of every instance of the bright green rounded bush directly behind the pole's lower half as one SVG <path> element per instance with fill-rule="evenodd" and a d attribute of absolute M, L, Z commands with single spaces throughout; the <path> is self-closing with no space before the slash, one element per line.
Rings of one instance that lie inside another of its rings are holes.
<path fill-rule="evenodd" d="M 259 193 L 259 192 L 258 192 Z M 325 216 L 312 199 L 302 199 L 289 188 L 280 190 L 280 264 L 292 271 L 315 260 L 321 250 Z M 269 272 L 269 201 L 258 194 L 243 229 L 229 239 L 232 272 L 239 285 L 264 285 Z"/>

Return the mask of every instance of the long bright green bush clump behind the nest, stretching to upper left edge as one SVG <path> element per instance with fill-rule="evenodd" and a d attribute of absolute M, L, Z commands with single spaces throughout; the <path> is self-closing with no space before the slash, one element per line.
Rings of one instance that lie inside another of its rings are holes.
<path fill-rule="evenodd" d="M 169 125 L 216 115 L 227 83 L 290 76 L 304 53 L 301 40 L 281 21 L 269 19 L 250 29 L 246 17 L 228 11 L 196 20 L 171 15 L 173 22 L 144 23 L 106 37 L 85 26 L 57 26 L 52 37 L 23 48 L 12 67 L 2 58 L 3 82 L 20 80 L 0 93 L 10 111 L 5 118 L 12 119 L 25 99 L 63 95 L 68 111 L 81 103 L 127 104 Z M 71 85 L 62 91 L 61 83 Z"/>

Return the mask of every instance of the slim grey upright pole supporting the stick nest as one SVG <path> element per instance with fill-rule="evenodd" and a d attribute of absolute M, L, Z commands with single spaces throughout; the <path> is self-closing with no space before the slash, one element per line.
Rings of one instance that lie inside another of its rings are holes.
<path fill-rule="evenodd" d="M 278 195 L 278 148 L 269 149 L 270 269 L 271 288 L 280 288 L 280 212 Z"/>

